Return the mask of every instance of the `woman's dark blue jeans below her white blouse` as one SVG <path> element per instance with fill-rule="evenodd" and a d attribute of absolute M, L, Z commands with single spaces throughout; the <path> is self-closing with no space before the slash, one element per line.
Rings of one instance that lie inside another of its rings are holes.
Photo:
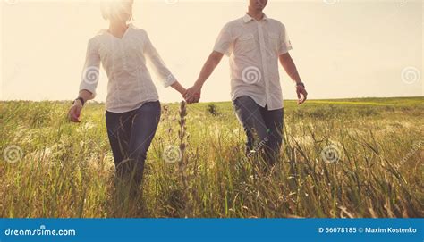
<path fill-rule="evenodd" d="M 143 178 L 144 162 L 157 125 L 160 120 L 159 101 L 148 102 L 136 110 L 126 113 L 106 111 L 106 128 L 116 176 L 131 179 L 140 185 Z"/>

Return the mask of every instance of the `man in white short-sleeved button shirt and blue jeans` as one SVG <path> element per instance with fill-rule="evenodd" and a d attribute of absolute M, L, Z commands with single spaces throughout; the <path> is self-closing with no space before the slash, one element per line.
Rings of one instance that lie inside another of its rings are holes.
<path fill-rule="evenodd" d="M 267 0 L 250 0 L 244 17 L 225 24 L 216 39 L 199 79 L 184 94 L 189 103 L 199 102 L 201 88 L 222 60 L 230 57 L 231 96 L 234 109 L 247 135 L 246 152 L 264 151 L 264 160 L 272 165 L 279 157 L 283 132 L 283 96 L 278 60 L 296 83 L 298 104 L 308 93 L 293 59 L 292 44 L 284 24 L 263 13 Z"/>

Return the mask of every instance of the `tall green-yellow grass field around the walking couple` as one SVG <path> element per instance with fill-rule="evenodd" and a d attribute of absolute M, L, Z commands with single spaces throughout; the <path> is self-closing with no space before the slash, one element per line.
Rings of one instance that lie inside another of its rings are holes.
<path fill-rule="evenodd" d="M 69 102 L 1 102 L 0 216 L 424 215 L 423 97 L 285 101 L 281 161 L 269 175 L 244 158 L 230 103 L 188 105 L 182 125 L 180 104 L 162 106 L 143 196 L 125 199 L 103 104 L 73 124 Z"/>

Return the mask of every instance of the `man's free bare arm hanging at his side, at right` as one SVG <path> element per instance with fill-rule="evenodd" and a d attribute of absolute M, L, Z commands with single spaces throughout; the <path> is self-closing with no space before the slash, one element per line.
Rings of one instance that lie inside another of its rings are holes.
<path fill-rule="evenodd" d="M 297 104 L 303 104 L 308 96 L 308 92 L 305 89 L 301 76 L 296 69 L 296 65 L 293 62 L 292 56 L 289 53 L 281 54 L 279 56 L 280 63 L 284 68 L 284 71 L 290 76 L 291 79 L 296 83 L 296 94 L 298 97 Z"/>

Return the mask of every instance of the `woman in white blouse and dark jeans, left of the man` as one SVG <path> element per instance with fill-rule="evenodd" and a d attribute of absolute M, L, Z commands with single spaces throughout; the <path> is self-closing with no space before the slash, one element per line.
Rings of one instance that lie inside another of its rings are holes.
<path fill-rule="evenodd" d="M 161 114 L 157 89 L 146 67 L 147 59 L 165 87 L 171 86 L 182 95 L 186 90 L 166 68 L 147 32 L 128 24 L 132 19 L 132 4 L 133 0 L 102 3 L 102 15 L 109 21 L 109 29 L 102 29 L 89 39 L 80 93 L 68 116 L 71 121 L 80 122 L 84 103 L 96 96 L 102 63 L 109 79 L 106 128 L 116 177 L 129 182 L 127 186 L 137 191 Z"/>

